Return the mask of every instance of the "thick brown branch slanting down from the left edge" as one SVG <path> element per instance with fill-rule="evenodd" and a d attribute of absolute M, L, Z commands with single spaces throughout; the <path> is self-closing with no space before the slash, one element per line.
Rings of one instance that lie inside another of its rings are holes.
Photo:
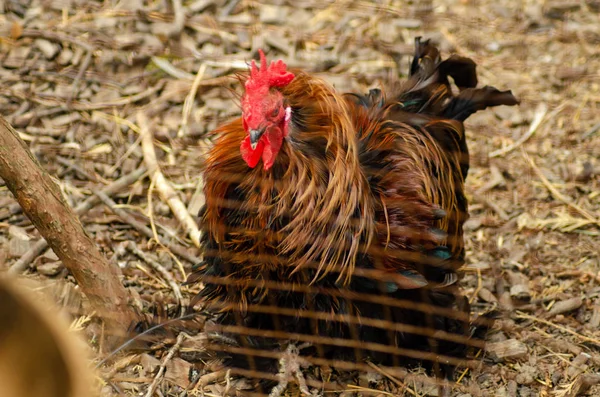
<path fill-rule="evenodd" d="M 60 188 L 42 169 L 18 133 L 0 117 L 0 177 L 23 212 L 67 269 L 113 336 L 124 336 L 138 314 L 110 264 L 83 229 Z M 111 338 L 112 339 L 112 338 Z M 116 342 L 115 339 L 110 343 Z"/>

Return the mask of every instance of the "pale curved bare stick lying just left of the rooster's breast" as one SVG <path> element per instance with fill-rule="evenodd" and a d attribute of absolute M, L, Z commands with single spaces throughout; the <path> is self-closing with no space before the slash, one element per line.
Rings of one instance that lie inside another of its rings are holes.
<path fill-rule="evenodd" d="M 154 152 L 154 144 L 152 143 L 152 133 L 148 125 L 148 118 L 143 112 L 137 113 L 138 125 L 140 134 L 142 135 L 142 152 L 144 154 L 144 162 L 150 171 L 151 178 L 156 181 L 156 188 L 162 199 L 168 204 L 169 208 L 175 215 L 179 223 L 187 230 L 187 234 L 196 247 L 200 247 L 200 230 L 196 222 L 187 211 L 185 205 L 181 202 L 177 193 L 158 166 L 156 153 Z"/>

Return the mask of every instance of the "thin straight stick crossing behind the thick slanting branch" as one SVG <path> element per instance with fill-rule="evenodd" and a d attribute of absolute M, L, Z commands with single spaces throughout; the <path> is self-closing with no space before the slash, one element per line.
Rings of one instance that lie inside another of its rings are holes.
<path fill-rule="evenodd" d="M 119 192 L 120 190 L 126 188 L 127 186 L 131 185 L 133 182 L 137 181 L 138 179 L 140 179 L 142 177 L 142 175 L 144 175 L 145 172 L 146 172 L 146 167 L 142 166 L 142 167 L 138 168 L 137 170 L 133 171 L 132 173 L 125 175 L 125 176 L 117 179 L 110 185 L 106 186 L 104 189 L 102 189 L 102 192 L 106 195 L 113 195 L 113 194 Z M 78 216 L 81 216 L 81 215 L 85 214 L 86 212 L 88 212 L 90 209 L 92 209 L 98 203 L 100 203 L 100 199 L 98 197 L 96 197 L 96 196 L 88 197 L 86 200 L 81 202 L 77 207 L 75 207 L 75 213 Z M 8 270 L 8 272 L 13 273 L 13 274 L 14 273 L 22 273 L 23 271 L 25 271 L 25 269 L 27 269 L 29 264 L 31 262 L 33 262 L 33 260 L 35 258 L 37 258 L 39 255 L 41 255 L 44 252 L 44 250 L 46 248 L 48 248 L 48 243 L 46 242 L 46 240 L 44 240 L 44 239 L 39 240 L 38 242 L 36 242 L 34 244 L 33 247 L 31 247 L 29 249 L 29 251 L 27 251 L 23 256 L 21 256 L 19 258 L 19 260 L 16 261 L 11 266 L 11 268 Z"/>

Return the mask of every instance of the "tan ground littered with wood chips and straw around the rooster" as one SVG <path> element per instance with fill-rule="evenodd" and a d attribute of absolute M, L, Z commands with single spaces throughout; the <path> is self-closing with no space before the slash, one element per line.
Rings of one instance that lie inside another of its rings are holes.
<path fill-rule="evenodd" d="M 481 368 L 465 371 L 454 395 L 600 395 L 596 0 L 0 0 L 0 114 L 75 206 L 143 163 L 136 114 L 144 111 L 160 168 L 195 213 L 207 132 L 239 114 L 232 94 L 239 87 L 227 76 L 245 69 L 257 48 L 342 91 L 365 91 L 406 73 L 416 36 L 432 38 L 445 55 L 472 58 L 480 85 L 511 89 L 521 101 L 467 122 L 464 288 L 475 311 L 498 306 L 503 314 Z M 147 177 L 112 198 L 200 254 Z M 148 258 L 178 282 L 189 262 L 104 205 L 81 220 L 141 307 L 174 302 Z M 0 184 L 0 265 L 14 264 L 38 238 Z M 147 257 L 132 254 L 127 241 Z M 57 257 L 36 257 L 27 274 L 49 282 L 97 349 L 92 313 Z M 194 291 L 182 288 L 186 298 Z M 101 369 L 102 395 L 144 395 L 173 343 L 118 356 Z M 195 368 L 183 357 L 168 361 L 155 395 L 201 394 L 183 392 Z M 346 395 L 437 392 L 389 383 L 359 382 Z M 219 380 L 204 392 L 222 395 L 229 386 Z"/>

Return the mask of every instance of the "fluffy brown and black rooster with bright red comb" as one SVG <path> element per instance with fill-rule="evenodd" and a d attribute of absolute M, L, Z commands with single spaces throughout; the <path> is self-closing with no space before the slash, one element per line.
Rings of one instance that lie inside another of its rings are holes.
<path fill-rule="evenodd" d="M 228 365 L 263 372 L 289 335 L 307 355 L 424 358 L 449 376 L 472 332 L 457 286 L 463 122 L 517 100 L 475 88 L 472 60 L 442 60 L 420 39 L 410 77 L 366 95 L 259 54 L 242 77 L 242 116 L 217 129 L 206 158 L 204 259 L 188 282 L 204 283 L 194 303 L 215 314 L 210 340 Z"/>

